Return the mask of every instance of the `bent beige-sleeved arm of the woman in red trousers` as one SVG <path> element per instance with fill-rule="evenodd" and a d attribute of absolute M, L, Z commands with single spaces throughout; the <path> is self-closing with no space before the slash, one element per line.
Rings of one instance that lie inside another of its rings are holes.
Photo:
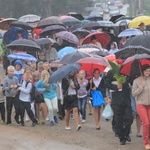
<path fill-rule="evenodd" d="M 138 84 L 136 80 L 133 81 L 132 86 L 132 96 L 136 97 L 142 93 L 144 86 L 142 84 Z"/>

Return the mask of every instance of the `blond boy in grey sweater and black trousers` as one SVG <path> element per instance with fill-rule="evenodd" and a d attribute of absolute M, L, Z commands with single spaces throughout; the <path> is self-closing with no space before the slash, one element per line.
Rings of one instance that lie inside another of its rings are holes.
<path fill-rule="evenodd" d="M 5 90 L 6 95 L 6 108 L 7 108 L 7 125 L 12 123 L 11 121 L 11 112 L 12 107 L 15 107 L 15 120 L 19 124 L 19 115 L 20 115 L 20 103 L 16 95 L 18 94 L 18 78 L 14 76 L 15 68 L 14 66 L 8 66 L 7 68 L 7 77 L 3 82 L 3 89 Z"/>

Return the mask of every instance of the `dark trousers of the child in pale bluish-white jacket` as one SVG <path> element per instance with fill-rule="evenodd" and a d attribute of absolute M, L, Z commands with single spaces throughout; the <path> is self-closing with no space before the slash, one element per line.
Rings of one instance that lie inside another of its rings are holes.
<path fill-rule="evenodd" d="M 21 102 L 21 123 L 24 123 L 25 110 L 27 111 L 27 114 L 28 114 L 29 118 L 32 120 L 32 122 L 37 122 L 37 120 L 33 114 L 33 111 L 31 110 L 30 102 L 23 102 L 23 101 L 20 101 L 20 102 Z"/>

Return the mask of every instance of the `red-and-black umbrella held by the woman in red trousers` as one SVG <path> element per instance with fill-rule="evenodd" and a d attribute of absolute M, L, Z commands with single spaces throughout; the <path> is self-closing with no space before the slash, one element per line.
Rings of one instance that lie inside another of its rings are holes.
<path fill-rule="evenodd" d="M 140 74 L 141 66 L 148 64 L 150 65 L 150 55 L 148 54 L 136 54 L 125 60 L 123 63 L 120 73 L 130 76 L 131 74 Z M 134 69 L 135 70 L 134 70 Z"/>

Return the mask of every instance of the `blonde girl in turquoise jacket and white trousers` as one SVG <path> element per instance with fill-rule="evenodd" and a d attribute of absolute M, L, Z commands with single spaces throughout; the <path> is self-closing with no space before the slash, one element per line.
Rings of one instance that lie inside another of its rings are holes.
<path fill-rule="evenodd" d="M 50 74 L 47 70 L 43 70 L 41 73 L 41 80 L 35 85 L 36 90 L 41 92 L 44 96 L 44 101 L 48 107 L 49 117 L 50 117 L 50 126 L 54 126 L 55 123 L 58 123 L 57 119 L 57 95 L 56 95 L 56 85 L 55 83 L 48 84 Z"/>

